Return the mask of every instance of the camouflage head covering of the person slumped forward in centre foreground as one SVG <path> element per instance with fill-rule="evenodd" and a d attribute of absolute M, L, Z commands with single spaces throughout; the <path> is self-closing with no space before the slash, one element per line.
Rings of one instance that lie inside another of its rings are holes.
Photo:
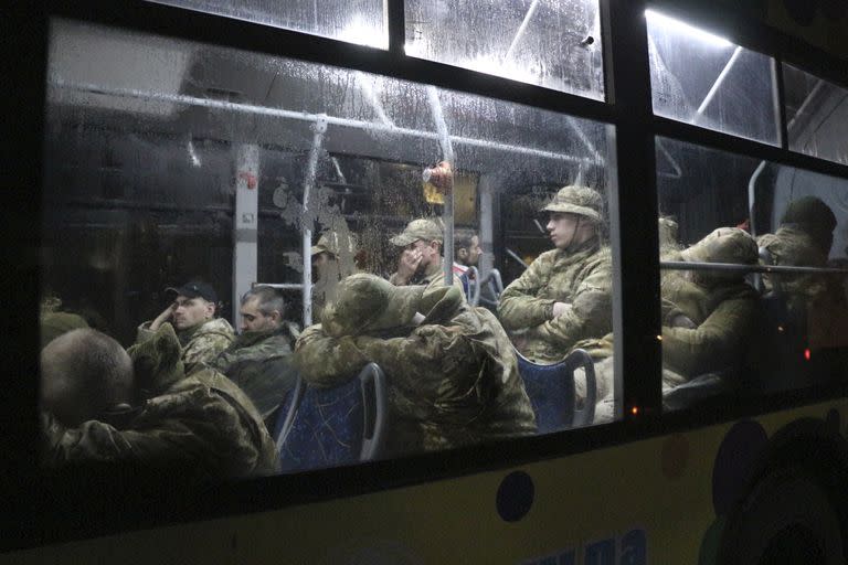
<path fill-rule="evenodd" d="M 321 315 L 324 331 L 338 338 L 409 326 L 425 288 L 396 287 L 374 275 L 351 275 L 339 282 L 336 300 Z"/>

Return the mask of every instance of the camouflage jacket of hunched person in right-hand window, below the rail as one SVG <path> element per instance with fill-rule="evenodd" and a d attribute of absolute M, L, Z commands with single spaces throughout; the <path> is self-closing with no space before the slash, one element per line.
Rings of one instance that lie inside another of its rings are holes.
<path fill-rule="evenodd" d="M 667 369 L 691 379 L 742 364 L 759 308 L 751 286 L 725 281 L 708 287 L 669 277 L 664 279 L 662 300 L 662 361 Z M 668 326 L 678 313 L 696 328 Z"/>

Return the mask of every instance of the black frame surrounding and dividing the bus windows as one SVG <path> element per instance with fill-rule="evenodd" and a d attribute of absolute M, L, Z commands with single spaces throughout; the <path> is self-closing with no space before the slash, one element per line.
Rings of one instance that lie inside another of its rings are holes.
<path fill-rule="evenodd" d="M 405 57 L 403 0 L 388 0 L 388 51 L 361 47 L 308 33 L 279 30 L 142 0 L 115 2 L 80 0 L 47 2 L 15 9 L 8 20 L 11 40 L 6 63 L 14 77 L 9 111 L 15 140 L 7 162 L 11 189 L 7 191 L 9 299 L 6 335 L 10 343 L 3 413 L 3 434 L 10 439 L 4 459 L 4 512 L 0 551 L 119 533 L 140 527 L 274 510 L 292 504 L 331 500 L 384 489 L 501 470 L 530 461 L 611 447 L 650 436 L 685 431 L 709 424 L 750 417 L 816 401 L 846 396 L 845 385 L 788 391 L 752 397 L 710 412 L 662 414 L 659 341 L 659 258 L 656 230 L 657 191 L 655 137 L 739 152 L 778 164 L 798 167 L 848 179 L 848 166 L 794 153 L 786 148 L 710 131 L 653 114 L 647 55 L 646 8 L 656 8 L 722 33 L 731 41 L 846 87 L 848 62 L 781 34 L 760 22 L 721 21 L 703 12 L 680 11 L 668 0 L 601 0 L 607 102 L 485 75 L 447 64 Z M 611 199 L 613 237 L 617 238 L 614 324 L 621 342 L 616 355 L 623 371 L 624 418 L 607 425 L 565 430 L 550 436 L 500 441 L 398 460 L 307 473 L 257 478 L 218 486 L 184 486 L 177 478 L 139 477 L 124 469 L 91 473 L 71 469 L 46 473 L 38 462 L 38 303 L 40 289 L 42 146 L 44 135 L 46 53 L 53 17 L 105 24 L 137 32 L 331 64 L 404 78 L 470 94 L 515 102 L 610 124 L 615 128 L 617 194 Z M 14 61 L 12 61 L 14 58 Z M 782 81 L 782 74 L 778 74 Z M 621 85 L 621 87 L 618 86 Z M 778 89 L 780 92 L 780 89 Z M 783 99 L 778 100 L 783 108 Z M 785 124 L 785 116 L 781 114 Z M 785 126 L 783 126 L 785 129 Z M 616 225 L 617 224 L 617 225 Z M 10 270 L 11 271 L 11 270 Z M 655 289 L 646 292 L 645 289 Z M 627 328 L 627 331 L 624 331 Z M 634 411 L 633 408 L 636 408 Z M 128 481 L 134 481 L 131 484 Z M 96 497 L 92 497 L 95 493 Z"/>

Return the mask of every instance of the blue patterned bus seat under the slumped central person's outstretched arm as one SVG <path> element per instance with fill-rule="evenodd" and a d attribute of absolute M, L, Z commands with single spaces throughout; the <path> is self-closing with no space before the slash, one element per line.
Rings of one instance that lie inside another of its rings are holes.
<path fill-rule="evenodd" d="M 359 376 L 332 388 L 305 386 L 287 433 L 280 435 L 283 472 L 375 459 L 386 419 L 385 375 L 369 363 Z M 295 395 L 296 396 L 296 395 Z"/>

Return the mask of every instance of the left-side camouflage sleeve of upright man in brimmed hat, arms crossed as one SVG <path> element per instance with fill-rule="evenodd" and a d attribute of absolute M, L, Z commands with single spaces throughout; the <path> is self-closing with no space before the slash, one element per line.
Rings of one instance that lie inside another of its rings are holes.
<path fill-rule="evenodd" d="M 549 259 L 542 255 L 504 289 L 498 303 L 498 318 L 507 330 L 532 328 L 551 318 L 554 300 L 536 297 L 544 280 L 542 275 L 545 268 L 550 268 Z"/>

